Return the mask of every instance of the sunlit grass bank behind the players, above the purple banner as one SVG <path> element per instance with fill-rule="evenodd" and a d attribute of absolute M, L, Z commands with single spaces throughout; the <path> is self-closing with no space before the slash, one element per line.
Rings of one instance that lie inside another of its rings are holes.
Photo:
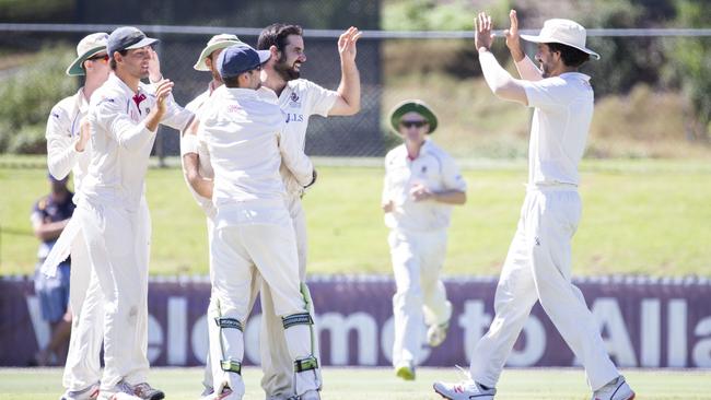
<path fill-rule="evenodd" d="M 0 166 L 0 274 L 31 273 L 37 240 L 30 210 L 46 173 Z M 389 273 L 380 210 L 383 169 L 316 162 L 319 181 L 304 198 L 311 273 Z M 380 163 L 380 162 L 378 162 Z M 456 208 L 446 274 L 496 275 L 525 195 L 525 162 L 463 163 L 468 202 Z M 13 167 L 9 167 L 12 165 Z M 574 273 L 711 275 L 711 164 L 706 161 L 586 161 L 583 219 L 573 242 Z M 201 211 L 180 172 L 150 169 L 153 274 L 207 273 Z"/>

